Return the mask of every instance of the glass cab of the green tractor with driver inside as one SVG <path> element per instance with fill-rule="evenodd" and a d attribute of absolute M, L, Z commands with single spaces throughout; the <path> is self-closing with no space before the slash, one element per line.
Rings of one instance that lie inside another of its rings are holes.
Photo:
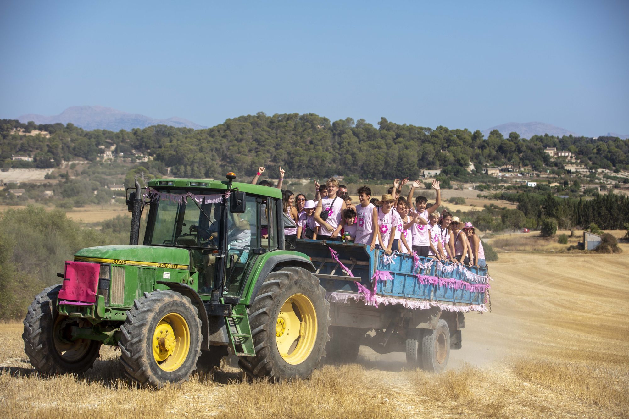
<path fill-rule="evenodd" d="M 230 174 L 228 174 L 230 175 Z M 238 298 L 256 255 L 283 249 L 277 189 L 228 181 L 155 179 L 142 206 L 149 212 L 143 245 L 189 250 L 201 296 Z"/>

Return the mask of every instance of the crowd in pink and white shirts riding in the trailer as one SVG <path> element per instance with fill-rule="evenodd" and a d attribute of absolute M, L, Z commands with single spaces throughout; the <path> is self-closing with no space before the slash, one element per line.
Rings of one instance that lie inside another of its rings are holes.
<path fill-rule="evenodd" d="M 273 182 L 258 182 L 264 167 L 252 179 L 252 184 L 274 186 Z M 277 188 L 282 188 L 284 170 L 280 168 Z M 285 224 L 284 235 L 313 240 L 332 240 L 368 245 L 371 250 L 382 249 L 386 254 L 399 252 L 455 264 L 486 266 L 481 239 L 472 223 L 462 223 L 448 211 L 441 214 L 439 182 L 433 181 L 435 203 L 425 196 L 416 196 L 421 185 L 411 184 L 408 196 L 401 196 L 408 179 L 396 179 L 381 199 L 372 198 L 371 189 L 361 186 L 356 194 L 360 201 L 354 204 L 347 186 L 331 178 L 325 184 L 315 181 L 315 199 L 307 200 L 302 193 L 282 190 L 284 213 L 290 225 Z"/>

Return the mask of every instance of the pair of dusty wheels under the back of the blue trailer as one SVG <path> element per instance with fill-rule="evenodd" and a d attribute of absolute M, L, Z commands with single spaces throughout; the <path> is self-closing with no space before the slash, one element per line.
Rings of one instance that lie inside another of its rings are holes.
<path fill-rule="evenodd" d="M 435 330 L 409 330 L 406 339 L 406 362 L 426 372 L 443 372 L 450 359 L 450 328 L 440 319 Z"/>

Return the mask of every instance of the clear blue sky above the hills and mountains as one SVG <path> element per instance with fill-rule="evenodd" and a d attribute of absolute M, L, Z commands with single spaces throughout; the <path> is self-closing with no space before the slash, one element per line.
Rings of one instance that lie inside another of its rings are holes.
<path fill-rule="evenodd" d="M 103 105 L 629 134 L 628 1 L 5 1 L 0 118 Z"/>

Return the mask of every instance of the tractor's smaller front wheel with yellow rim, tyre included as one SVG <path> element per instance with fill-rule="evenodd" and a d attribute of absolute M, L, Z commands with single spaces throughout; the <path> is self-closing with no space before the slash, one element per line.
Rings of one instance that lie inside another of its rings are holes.
<path fill-rule="evenodd" d="M 164 332 L 162 338 L 156 340 L 157 333 L 168 330 L 169 326 L 172 333 Z M 142 387 L 181 384 L 196 369 L 203 335 L 198 311 L 186 296 L 174 291 L 144 293 L 142 298 L 133 301 L 133 308 L 126 312 L 120 329 L 120 362 L 126 376 Z M 182 344 L 186 333 L 187 348 Z M 163 359 L 158 360 L 162 356 Z"/>

